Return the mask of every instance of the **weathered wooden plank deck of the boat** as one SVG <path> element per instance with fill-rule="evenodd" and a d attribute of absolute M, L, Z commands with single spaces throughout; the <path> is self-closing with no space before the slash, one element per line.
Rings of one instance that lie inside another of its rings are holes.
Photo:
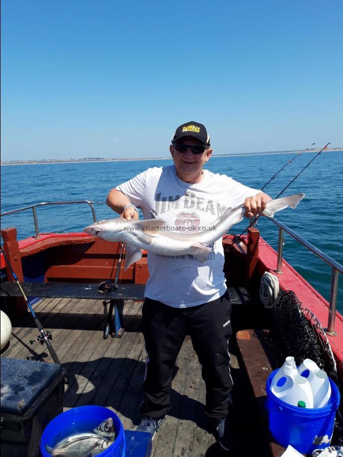
<path fill-rule="evenodd" d="M 243 295 L 238 293 L 235 300 L 240 297 L 239 301 L 244 302 Z M 136 429 L 145 372 L 141 307 L 141 302 L 127 301 L 122 322 L 126 332 L 121 339 L 109 337 L 104 340 L 107 310 L 102 301 L 44 299 L 35 305 L 35 312 L 44 329 L 51 332 L 52 346 L 67 369 L 69 385 L 66 386 L 65 411 L 82 405 L 106 406 L 116 412 L 124 429 Z M 37 341 L 32 345 L 29 343 L 38 335 L 29 313 L 20 320 L 12 319 L 12 325 L 12 336 L 9 346 L 2 352 L 3 357 L 53 363 L 45 345 Z M 253 449 L 255 452 L 259 449 L 259 455 L 268 455 L 262 432 L 256 425 L 259 421 L 250 407 L 250 390 L 234 353 L 231 353 L 231 361 L 235 388 L 243 395 L 237 410 L 241 448 L 230 455 L 248 455 Z M 154 437 L 151 455 L 227 455 L 208 431 L 204 413 L 205 384 L 189 336 L 186 336 L 177 358 L 171 397 L 172 407 L 161 431 Z"/>

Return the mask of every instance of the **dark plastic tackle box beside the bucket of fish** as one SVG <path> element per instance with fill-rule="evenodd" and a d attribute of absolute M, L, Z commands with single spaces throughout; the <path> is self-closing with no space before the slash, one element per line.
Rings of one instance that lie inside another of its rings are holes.
<path fill-rule="evenodd" d="M 42 431 L 63 412 L 59 364 L 1 358 L 1 457 L 38 457 Z"/>

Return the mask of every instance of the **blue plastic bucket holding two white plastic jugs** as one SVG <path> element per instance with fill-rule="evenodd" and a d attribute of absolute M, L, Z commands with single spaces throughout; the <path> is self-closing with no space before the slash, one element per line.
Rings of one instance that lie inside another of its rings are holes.
<path fill-rule="evenodd" d="M 339 390 L 330 379 L 331 398 L 324 408 L 299 408 L 283 402 L 270 390 L 273 377 L 278 370 L 270 373 L 267 379 L 267 402 L 269 410 L 269 430 L 277 443 L 287 447 L 291 444 L 303 454 L 311 454 L 315 449 L 324 449 L 331 442 L 336 410 L 339 406 Z"/>

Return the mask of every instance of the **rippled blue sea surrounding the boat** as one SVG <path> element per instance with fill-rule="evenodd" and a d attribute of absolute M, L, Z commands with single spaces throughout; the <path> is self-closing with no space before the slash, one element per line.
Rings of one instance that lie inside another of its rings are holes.
<path fill-rule="evenodd" d="M 343 152 L 270 153 L 251 155 L 212 155 L 205 168 L 226 174 L 254 188 L 274 176 L 265 191 L 276 197 L 299 173 L 283 195 L 303 192 L 305 198 L 295 210 L 286 209 L 276 218 L 343 264 Z M 304 167 L 312 160 L 311 164 Z M 171 165 L 171 159 L 71 162 L 44 165 L 1 167 L 1 213 L 41 202 L 89 200 L 95 203 L 97 219 L 115 214 L 106 206 L 109 190 L 150 167 Z M 304 170 L 303 170 L 304 169 Z M 303 170 L 303 171 L 302 171 Z M 301 172 L 302 171 L 302 172 Z M 48 232 L 82 232 L 92 222 L 86 203 L 37 208 L 39 230 Z M 16 227 L 18 240 L 35 235 L 31 209 L 1 218 L 2 228 Z M 233 226 L 230 233 L 241 234 L 248 219 Z M 260 218 L 261 236 L 277 249 L 278 227 Z M 321 295 L 329 300 L 331 267 L 314 253 L 285 234 L 284 258 Z M 276 268 L 276 266 L 275 266 Z M 337 310 L 343 314 L 343 278 L 339 275 Z"/>

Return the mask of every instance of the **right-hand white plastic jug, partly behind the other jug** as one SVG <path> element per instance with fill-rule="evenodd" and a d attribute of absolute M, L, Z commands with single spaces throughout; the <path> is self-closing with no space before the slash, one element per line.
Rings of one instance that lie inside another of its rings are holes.
<path fill-rule="evenodd" d="M 324 408 L 331 397 L 331 385 L 328 375 L 310 358 L 305 358 L 298 368 L 298 373 L 305 377 L 311 386 L 313 407 Z"/>

